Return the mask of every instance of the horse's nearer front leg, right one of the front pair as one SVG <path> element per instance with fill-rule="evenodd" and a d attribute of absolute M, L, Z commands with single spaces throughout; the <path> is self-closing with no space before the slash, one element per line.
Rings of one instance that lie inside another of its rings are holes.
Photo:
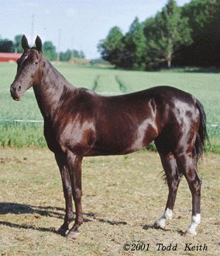
<path fill-rule="evenodd" d="M 81 162 L 81 156 L 78 156 L 77 154 L 74 154 L 70 151 L 67 152 L 67 164 L 76 208 L 76 219 L 74 226 L 70 229 L 69 233 L 67 233 L 66 237 L 72 239 L 75 239 L 77 237 L 77 235 L 79 234 L 78 228 L 83 223 L 83 215 L 81 208 Z"/>

